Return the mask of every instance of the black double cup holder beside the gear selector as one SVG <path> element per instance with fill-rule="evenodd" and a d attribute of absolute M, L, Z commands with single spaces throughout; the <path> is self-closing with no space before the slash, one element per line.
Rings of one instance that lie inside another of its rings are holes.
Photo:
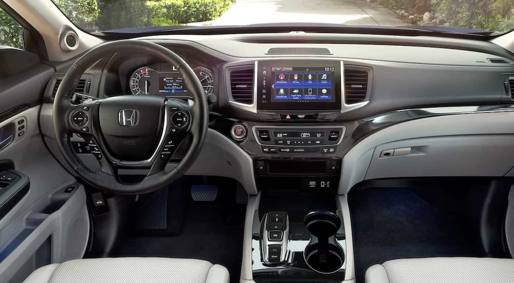
<path fill-rule="evenodd" d="M 323 274 L 339 271 L 344 263 L 343 249 L 336 240 L 341 227 L 339 217 L 329 211 L 312 211 L 303 222 L 311 235 L 304 251 L 307 265 Z"/>

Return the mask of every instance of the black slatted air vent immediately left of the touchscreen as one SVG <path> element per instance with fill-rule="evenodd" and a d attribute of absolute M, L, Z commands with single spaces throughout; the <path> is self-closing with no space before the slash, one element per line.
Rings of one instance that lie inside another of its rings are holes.
<path fill-rule="evenodd" d="M 253 103 L 253 68 L 233 70 L 230 73 L 230 90 L 234 101 Z"/>

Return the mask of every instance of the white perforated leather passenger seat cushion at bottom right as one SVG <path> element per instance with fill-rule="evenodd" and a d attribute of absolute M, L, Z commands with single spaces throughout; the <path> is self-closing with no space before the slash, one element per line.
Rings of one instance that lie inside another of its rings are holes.
<path fill-rule="evenodd" d="M 434 257 L 395 259 L 366 271 L 366 283 L 512 283 L 514 259 Z"/>

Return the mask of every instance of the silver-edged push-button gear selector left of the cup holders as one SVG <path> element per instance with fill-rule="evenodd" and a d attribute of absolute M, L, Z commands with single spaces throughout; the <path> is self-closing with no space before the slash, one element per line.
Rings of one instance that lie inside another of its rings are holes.
<path fill-rule="evenodd" d="M 261 258 L 266 264 L 286 261 L 289 240 L 289 220 L 285 212 L 270 212 L 264 215 L 261 227 Z"/>

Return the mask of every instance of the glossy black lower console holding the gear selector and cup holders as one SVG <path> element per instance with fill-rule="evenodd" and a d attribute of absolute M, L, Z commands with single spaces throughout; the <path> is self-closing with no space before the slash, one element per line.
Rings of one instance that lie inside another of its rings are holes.
<path fill-rule="evenodd" d="M 263 191 L 252 227 L 254 282 L 345 280 L 346 233 L 334 194 Z"/>

